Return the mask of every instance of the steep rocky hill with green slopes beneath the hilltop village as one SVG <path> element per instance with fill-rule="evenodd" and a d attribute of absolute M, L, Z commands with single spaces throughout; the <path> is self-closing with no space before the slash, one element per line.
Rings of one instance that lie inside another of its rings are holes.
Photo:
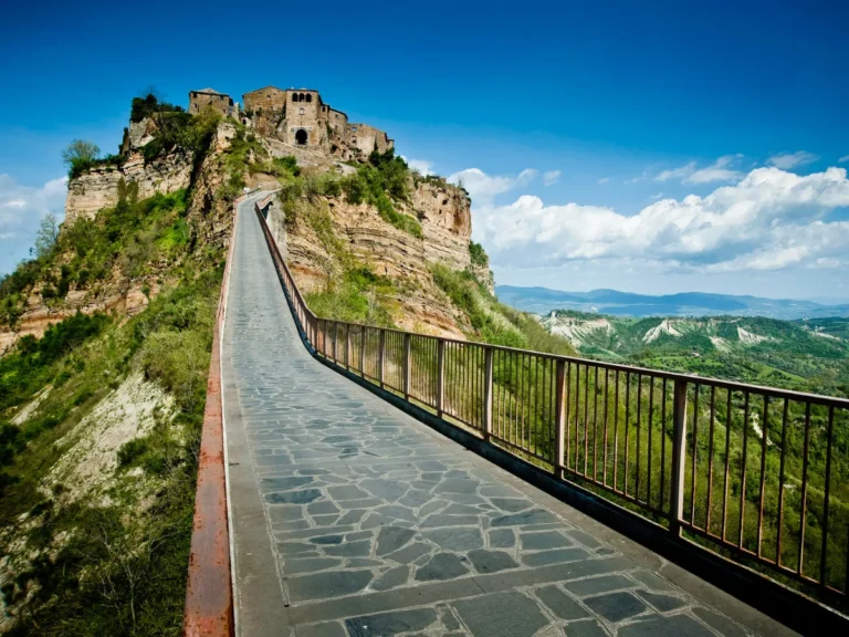
<path fill-rule="evenodd" d="M 0 633 L 180 633 L 212 322 L 245 190 L 275 191 L 319 315 L 574 354 L 495 300 L 468 194 L 410 170 L 385 134 L 337 122 L 292 145 L 280 115 L 193 108 L 198 93 L 192 114 L 135 98 L 117 155 L 75 140 L 64 223 L 45 219 L 34 258 L 0 280 Z"/>

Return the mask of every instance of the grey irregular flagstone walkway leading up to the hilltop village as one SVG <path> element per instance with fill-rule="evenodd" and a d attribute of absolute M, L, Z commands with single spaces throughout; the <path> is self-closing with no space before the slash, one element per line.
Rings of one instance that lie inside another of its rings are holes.
<path fill-rule="evenodd" d="M 223 342 L 241 635 L 751 633 L 716 589 L 699 584 L 714 607 L 698 601 L 647 568 L 657 556 L 635 560 L 629 541 L 314 361 L 251 206 Z M 744 610 L 750 628 L 786 630 Z"/>

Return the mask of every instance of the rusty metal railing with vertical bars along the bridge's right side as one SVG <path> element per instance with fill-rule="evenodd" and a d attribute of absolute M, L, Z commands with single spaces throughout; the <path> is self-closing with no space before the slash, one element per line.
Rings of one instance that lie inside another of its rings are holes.
<path fill-rule="evenodd" d="M 849 400 L 322 318 L 258 216 L 318 355 L 846 606 Z"/>

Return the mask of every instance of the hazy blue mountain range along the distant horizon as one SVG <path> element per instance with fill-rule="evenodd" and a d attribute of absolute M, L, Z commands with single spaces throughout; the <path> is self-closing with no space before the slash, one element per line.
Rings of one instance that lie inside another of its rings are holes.
<path fill-rule="evenodd" d="M 614 316 L 767 316 L 788 321 L 849 316 L 849 303 L 826 305 L 814 301 L 702 292 L 652 296 L 617 290 L 563 292 L 548 288 L 497 285 L 495 294 L 502 303 L 536 314 L 575 310 Z"/>

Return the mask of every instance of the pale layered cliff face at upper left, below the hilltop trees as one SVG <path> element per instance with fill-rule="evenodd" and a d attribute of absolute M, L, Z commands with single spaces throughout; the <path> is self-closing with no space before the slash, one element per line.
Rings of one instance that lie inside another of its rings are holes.
<path fill-rule="evenodd" d="M 169 153 L 149 164 L 140 153 L 134 153 L 122 166 L 97 166 L 67 184 L 65 223 L 77 219 L 93 219 L 101 208 L 118 201 L 118 181 L 138 184 L 138 198 L 153 197 L 157 192 L 172 192 L 189 186 L 191 156 Z"/>

